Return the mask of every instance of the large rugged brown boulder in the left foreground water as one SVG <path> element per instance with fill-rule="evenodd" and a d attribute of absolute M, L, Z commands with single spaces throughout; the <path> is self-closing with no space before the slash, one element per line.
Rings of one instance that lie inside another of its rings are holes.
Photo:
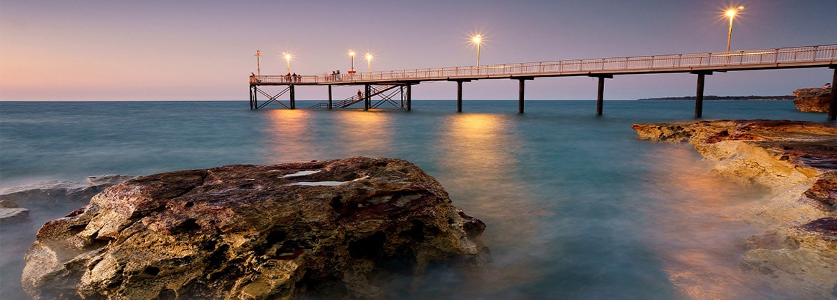
<path fill-rule="evenodd" d="M 485 224 L 391 158 L 233 165 L 105 189 L 39 230 L 35 298 L 377 298 L 388 274 L 479 265 Z M 467 270 L 467 268 L 463 269 Z"/>

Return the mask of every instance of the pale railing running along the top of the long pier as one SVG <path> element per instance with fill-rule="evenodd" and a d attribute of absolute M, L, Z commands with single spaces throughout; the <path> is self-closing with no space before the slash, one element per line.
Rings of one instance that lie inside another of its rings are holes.
<path fill-rule="evenodd" d="M 285 75 L 251 76 L 250 83 L 340 84 L 400 80 L 455 80 L 516 76 L 586 74 L 639 74 L 691 70 L 747 70 L 837 64 L 837 44 L 808 47 L 752 49 L 731 52 L 665 54 L 606 59 L 570 59 L 544 62 L 472 65 L 417 70 L 388 70 L 343 75 L 302 75 L 293 81 Z"/>

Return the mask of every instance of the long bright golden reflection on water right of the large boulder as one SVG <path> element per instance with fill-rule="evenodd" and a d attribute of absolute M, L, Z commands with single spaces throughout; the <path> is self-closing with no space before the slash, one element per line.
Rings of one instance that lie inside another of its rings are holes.
<path fill-rule="evenodd" d="M 488 224 L 485 244 L 528 249 L 527 256 L 496 257 L 489 277 L 483 278 L 482 291 L 532 282 L 542 274 L 531 266 L 542 257 L 537 251 L 537 217 L 547 213 L 531 204 L 533 195 L 520 177 L 515 153 L 519 142 L 512 134 L 514 122 L 507 115 L 457 114 L 441 124 L 440 169 L 437 178 L 451 194 L 454 205 Z M 552 256 L 554 253 L 542 253 Z M 505 261 L 503 261 L 505 260 Z M 472 282 L 474 283 L 474 282 Z"/>

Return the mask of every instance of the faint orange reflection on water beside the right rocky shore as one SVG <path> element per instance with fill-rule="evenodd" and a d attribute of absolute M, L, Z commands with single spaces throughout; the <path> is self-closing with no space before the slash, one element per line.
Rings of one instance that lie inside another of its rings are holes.
<path fill-rule="evenodd" d="M 715 176 L 691 146 L 654 149 L 649 233 L 670 282 L 693 299 L 757 297 L 738 268 L 744 239 L 757 230 L 738 215 L 763 191 Z"/>

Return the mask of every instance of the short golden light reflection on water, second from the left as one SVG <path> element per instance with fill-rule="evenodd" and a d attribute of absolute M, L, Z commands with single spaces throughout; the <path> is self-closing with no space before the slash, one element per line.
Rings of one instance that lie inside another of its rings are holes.
<path fill-rule="evenodd" d="M 336 135 L 340 153 L 347 156 L 383 157 L 393 147 L 394 122 L 386 111 L 340 111 L 336 114 Z"/>

